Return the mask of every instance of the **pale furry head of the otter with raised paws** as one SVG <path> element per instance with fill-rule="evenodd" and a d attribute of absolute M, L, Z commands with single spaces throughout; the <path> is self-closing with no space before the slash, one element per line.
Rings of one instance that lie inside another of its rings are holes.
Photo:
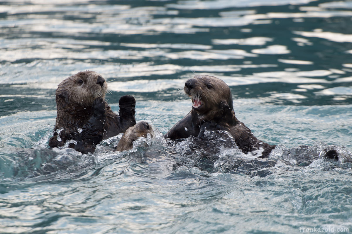
<path fill-rule="evenodd" d="M 81 71 L 63 80 L 56 90 L 56 100 L 91 106 L 97 97 L 104 99 L 107 91 L 105 79 L 95 71 Z"/>

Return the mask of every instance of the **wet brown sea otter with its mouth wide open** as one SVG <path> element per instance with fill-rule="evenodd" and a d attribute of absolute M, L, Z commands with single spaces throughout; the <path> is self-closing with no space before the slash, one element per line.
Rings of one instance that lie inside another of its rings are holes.
<path fill-rule="evenodd" d="M 236 118 L 232 94 L 224 81 L 214 76 L 196 75 L 186 81 L 184 92 L 191 97 L 192 110 L 164 135 L 165 138 L 201 137 L 205 129 L 226 130 L 246 154 L 263 148 L 260 158 L 265 158 L 275 148 L 275 145 L 254 137 L 251 130 Z"/>

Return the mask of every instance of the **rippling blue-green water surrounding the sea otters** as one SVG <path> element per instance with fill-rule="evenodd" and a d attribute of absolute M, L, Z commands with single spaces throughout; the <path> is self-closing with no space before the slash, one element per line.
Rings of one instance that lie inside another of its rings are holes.
<path fill-rule="evenodd" d="M 0 1 L 0 233 L 350 233 L 351 24 L 351 1 Z M 115 112 L 136 97 L 154 138 L 47 148 L 57 84 L 87 69 Z M 163 139 L 194 73 L 223 79 L 237 118 L 278 145 L 264 166 Z"/>

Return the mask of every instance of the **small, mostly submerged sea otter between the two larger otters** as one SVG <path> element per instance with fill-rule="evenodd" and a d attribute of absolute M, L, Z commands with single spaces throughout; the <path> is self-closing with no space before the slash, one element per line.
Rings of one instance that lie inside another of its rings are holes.
<path fill-rule="evenodd" d="M 138 122 L 136 125 L 129 127 L 119 141 L 116 150 L 124 151 L 131 150 L 133 141 L 139 137 L 147 137 L 147 134 L 152 134 L 152 127 L 145 121 Z"/>

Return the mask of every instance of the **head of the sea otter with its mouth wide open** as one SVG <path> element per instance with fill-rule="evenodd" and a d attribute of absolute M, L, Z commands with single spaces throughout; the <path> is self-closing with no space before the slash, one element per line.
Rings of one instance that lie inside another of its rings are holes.
<path fill-rule="evenodd" d="M 214 76 L 196 75 L 184 84 L 184 92 L 191 97 L 192 108 L 198 114 L 217 111 L 227 103 L 233 109 L 232 94 L 227 84 Z"/>

